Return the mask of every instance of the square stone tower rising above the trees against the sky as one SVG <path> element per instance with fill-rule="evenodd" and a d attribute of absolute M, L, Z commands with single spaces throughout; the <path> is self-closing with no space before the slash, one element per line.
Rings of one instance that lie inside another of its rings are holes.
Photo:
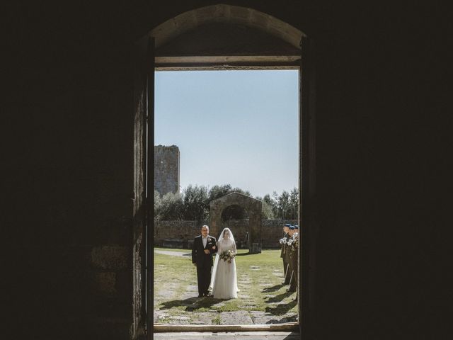
<path fill-rule="evenodd" d="M 154 146 L 154 190 L 162 196 L 179 193 L 179 148 Z"/>

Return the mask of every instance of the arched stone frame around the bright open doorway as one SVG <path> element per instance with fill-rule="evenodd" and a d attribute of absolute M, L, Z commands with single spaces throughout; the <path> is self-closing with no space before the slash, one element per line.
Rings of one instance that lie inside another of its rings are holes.
<path fill-rule="evenodd" d="M 137 42 L 137 72 L 134 89 L 134 334 L 146 321 L 152 338 L 153 205 L 154 178 L 154 71 L 155 69 L 302 69 L 299 108 L 299 216 L 302 251 L 299 251 L 299 316 L 309 307 L 308 255 L 311 220 L 308 211 L 314 196 L 314 86 L 309 40 L 296 28 L 251 8 L 224 4 L 197 8 L 156 26 Z M 303 48 L 302 48 L 303 47 Z M 304 84 L 304 86 L 302 86 Z M 309 103 L 312 103 L 309 105 Z M 302 124 L 304 122 L 304 124 Z M 302 163 L 304 168 L 302 168 Z M 151 166 L 150 166 L 151 164 Z M 302 190 L 304 188 L 304 190 Z M 302 205 L 304 202 L 304 205 Z M 142 207 L 144 205 L 144 208 Z M 147 215 L 147 223 L 139 216 Z M 304 222 L 302 223 L 302 219 Z M 302 252 L 304 256 L 302 256 Z M 311 268 L 314 264 L 310 263 Z M 313 271 L 313 269 L 311 269 Z M 304 276 L 304 281 L 300 277 Z M 313 277 L 313 276 L 311 276 Z M 144 278 L 144 280 L 142 280 Z M 145 292 L 145 294 L 144 294 Z M 307 319 L 306 316 L 305 320 Z M 302 322 L 299 323 L 302 327 Z M 301 328 L 302 330 L 302 328 Z"/>

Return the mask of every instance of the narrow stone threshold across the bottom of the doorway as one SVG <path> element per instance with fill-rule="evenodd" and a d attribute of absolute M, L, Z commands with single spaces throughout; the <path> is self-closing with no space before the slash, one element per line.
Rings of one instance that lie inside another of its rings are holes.
<path fill-rule="evenodd" d="M 297 322 L 285 324 L 154 324 L 154 332 L 180 331 L 299 331 Z"/>

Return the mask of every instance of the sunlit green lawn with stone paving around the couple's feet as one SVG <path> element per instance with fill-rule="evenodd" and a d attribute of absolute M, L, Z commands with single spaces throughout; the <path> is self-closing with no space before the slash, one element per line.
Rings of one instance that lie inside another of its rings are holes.
<path fill-rule="evenodd" d="M 173 317 L 196 319 L 196 313 L 233 312 L 238 310 L 266 312 L 267 315 L 294 317 L 297 314 L 296 293 L 287 292 L 282 285 L 283 265 L 280 249 L 264 250 L 261 254 L 248 254 L 239 249 L 236 256 L 239 298 L 216 300 L 197 297 L 197 273 L 188 249 L 155 250 L 178 251 L 183 256 L 154 254 L 154 308 L 166 314 L 159 322 Z M 214 315 L 214 314 L 213 314 Z M 212 318 L 218 323 L 218 316 Z M 294 320 L 292 320 L 294 321 Z"/>

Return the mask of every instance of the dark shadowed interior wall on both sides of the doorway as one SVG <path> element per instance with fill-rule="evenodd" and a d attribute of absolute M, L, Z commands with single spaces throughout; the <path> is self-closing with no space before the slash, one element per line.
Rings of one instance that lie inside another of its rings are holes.
<path fill-rule="evenodd" d="M 442 8 L 222 2 L 316 40 L 316 339 L 444 339 L 452 125 Z M 30 1 L 4 12 L 11 339 L 129 338 L 132 45 L 212 3 Z"/>

